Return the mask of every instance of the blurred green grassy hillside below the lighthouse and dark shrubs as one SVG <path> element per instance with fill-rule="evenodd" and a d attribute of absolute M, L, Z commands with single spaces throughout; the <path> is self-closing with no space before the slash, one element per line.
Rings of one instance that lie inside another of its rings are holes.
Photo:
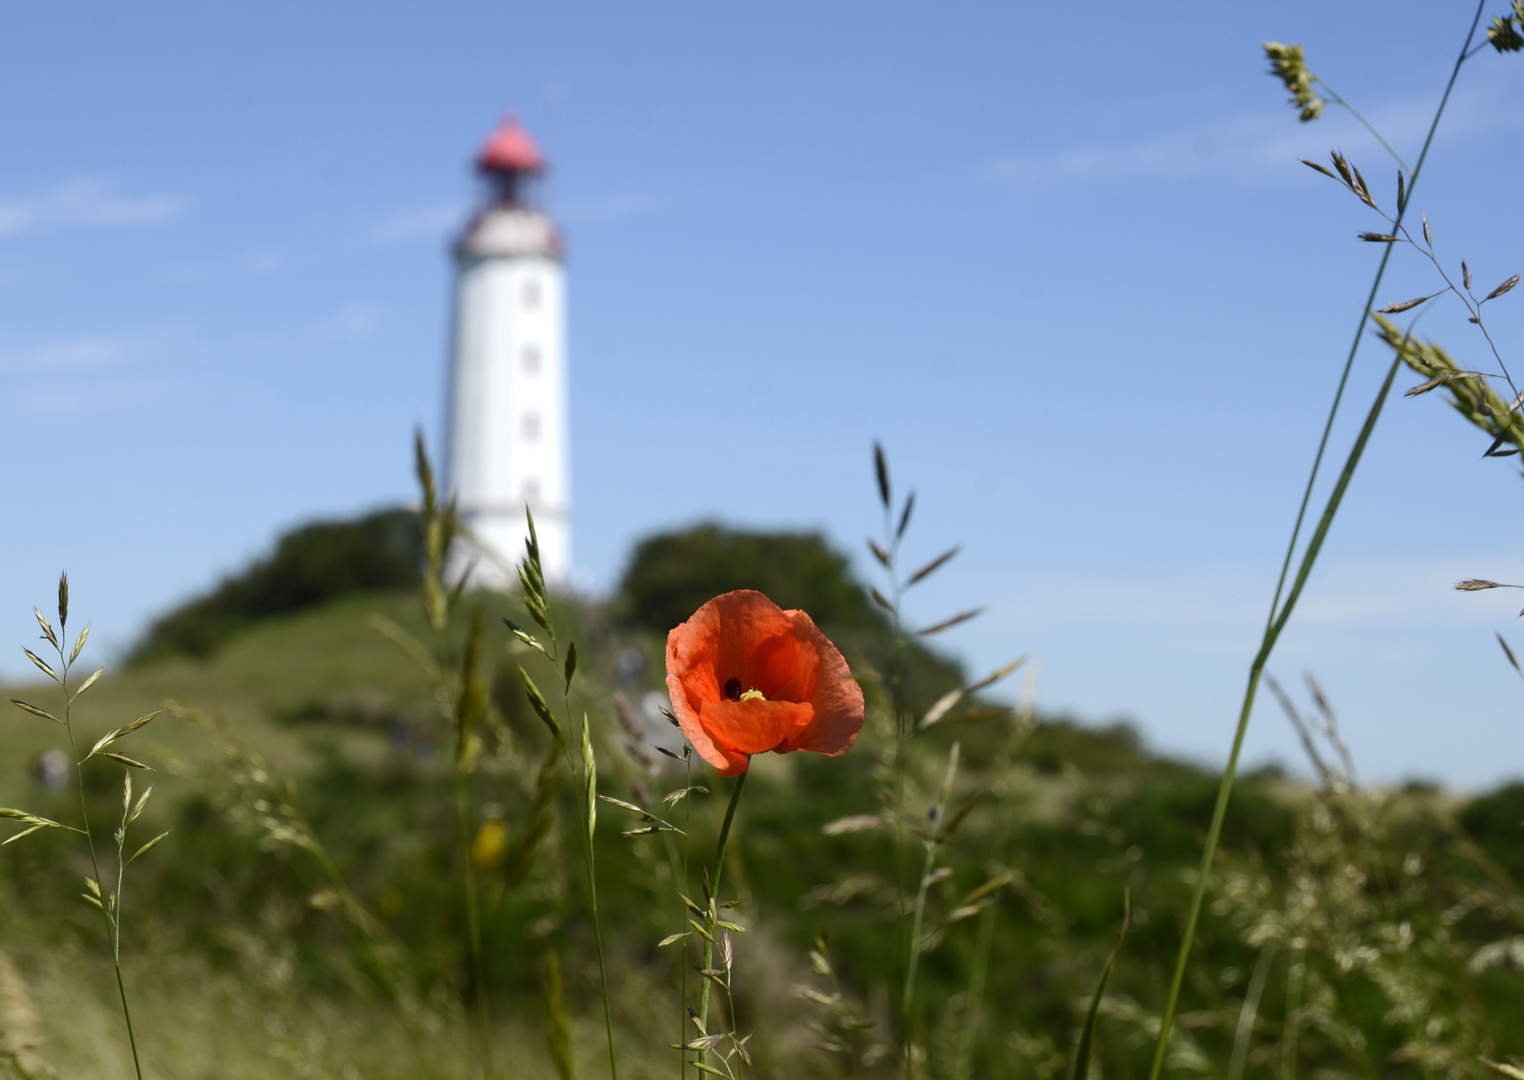
<path fill-rule="evenodd" d="M 489 993 L 500 1053 L 517 1063 L 512 1075 L 553 1074 L 543 1034 L 544 964 L 553 951 L 565 964 L 567 1008 L 581 1033 L 576 1053 L 596 1075 L 596 966 L 565 784 L 552 833 L 521 882 L 511 882 L 504 855 L 529 829 L 533 777 L 549 745 L 523 705 L 517 676 L 520 663 L 538 658 L 514 643 L 495 617 L 517 612 L 514 599 L 480 602 L 494 615 L 486 620 L 486 653 L 497 669 L 501 725 L 471 798 L 474 858 L 491 912 Z M 582 643 L 590 678 L 575 708 L 587 708 L 593 721 L 600 791 L 651 806 L 683 786 L 684 771 L 651 752 L 640 734 L 643 721 L 634 727 L 620 721 L 614 692 L 639 711 L 642 695 L 660 687 L 660 638 L 623 631 L 597 609 L 558 611 L 562 623 L 578 626 Z M 181 701 L 219 717 L 264 759 L 259 766 L 230 759 L 203 728 L 171 714 L 133 736 L 134 754 L 158 769 L 139 777 L 140 784 L 155 784 L 143 835 L 174 827 L 152 858 L 134 867 L 126 894 L 136 919 L 123 955 L 158 1075 L 465 1075 L 462 1010 L 469 992 L 448 731 L 427 679 L 373 628 L 376 615 L 427 640 L 415 594 L 358 593 L 250 626 L 204 660 L 169 657 L 110 672 L 78 705 L 81 736 L 90 739 L 169 699 Z M 853 663 L 864 670 L 869 661 Z M 550 684 L 543 663 L 529 666 Z M 52 705 L 37 685 L 6 687 L 6 696 Z M 38 754 L 58 743 L 59 730 L 20 711 L 6 724 L 0 801 L 64 820 L 67 792 L 50 792 L 34 775 Z M 1105 1071 L 1132 1075 L 1148 1010 L 1163 996 L 1178 941 L 1178 912 L 1215 778 L 1151 754 L 1122 727 L 1049 719 L 1024 739 L 1013 742 L 1013 734 L 1020 733 L 1009 719 L 946 724 L 911 743 L 905 783 L 913 806 L 928 804 L 954 742 L 962 754 L 959 797 L 978 795 L 945 850 L 949 873 L 930 890 L 930 926 L 937 934 L 924 957 L 928 1005 L 919 1022 L 927 1045 L 939 1048 L 940 1062 L 966 1059 L 971 1075 L 980 1077 L 1050 1077 L 1065 1068 L 1081 1005 L 1113 944 L 1128 893 L 1132 929 L 1105 1002 L 1097 1053 Z M 828 835 L 824 826 L 882 807 L 892 748 L 892 733 L 870 719 L 841 759 L 756 759 L 730 874 L 742 899 L 736 917 L 751 931 L 739 946 L 738 1022 L 756 1031 L 759 1075 L 852 1071 L 846 1057 L 818 1051 L 821 1037 L 808 1027 L 837 1030 L 840 1018 L 797 993 L 823 986 L 808 961 L 820 935 L 831 941 L 841 1001 L 875 1024 L 861 1034 L 867 1053 L 860 1059 L 870 1074 L 885 1069 L 882 1060 L 873 1063 L 872 1043 L 893 1025 L 890 1002 L 905 955 L 895 920 L 895 845 L 882 827 Z M 120 769 L 104 763 L 88 775 L 93 804 L 108 820 L 120 800 Z M 695 778 L 715 794 L 674 809 L 692 838 L 695 865 L 713 844 L 728 789 L 728 781 L 703 775 Z M 287 780 L 303 821 L 378 920 L 375 940 L 323 899 L 331 882 L 309 852 L 271 839 L 268 800 Z M 1394 952 L 1382 935 L 1416 926 L 1433 954 L 1425 964 L 1463 972 L 1468 957 L 1501 938 L 1510 905 L 1524 909 L 1506 883 L 1507 871 L 1524 865 L 1518 804 L 1512 789 L 1460 807 L 1433 792 L 1337 784 L 1320 791 L 1276 774 L 1250 777 L 1228 818 L 1224 887 L 1204 928 L 1201 975 L 1187 987 L 1181 1060 L 1213 1072 L 1210 1063 L 1233 1053 L 1257 964 L 1266 955 L 1269 964 L 1301 957 L 1298 978 L 1308 993 L 1324 984 L 1344 993 L 1321 1005 L 1327 1018 L 1298 1021 L 1303 1060 L 1338 1071 L 1353 1054 L 1379 1063 L 1382 1074 L 1419 1075 L 1411 1048 L 1404 1050 L 1410 1033 L 1390 1021 L 1382 986 L 1390 989 L 1399 975 L 1417 979 L 1426 969 L 1414 973 L 1402 964 L 1416 964 L 1422 951 Z M 625 1072 L 666 1075 L 675 1059 L 663 1057 L 669 1051 L 661 1048 L 680 1031 L 672 989 L 678 967 L 657 941 L 683 926 L 672 900 L 671 859 L 678 848 L 668 845 L 671 836 L 619 835 L 632 824 L 614 807 L 600 812 L 599 876 L 616 1019 L 628 1048 Z M 1463 829 L 1480 847 L 1468 847 Z M 1478 862 L 1480 852 L 1490 852 L 1492 861 Z M 1423 867 L 1419 877 L 1404 870 L 1414 861 Z M 0 947 L 41 1008 L 37 1022 L 49 1043 L 37 1053 L 52 1054 L 53 1065 L 70 1074 L 114 1075 L 107 1062 L 119 1060 L 111 1051 L 117 1033 L 94 951 L 99 922 L 69 899 L 82 873 L 59 836 L 43 833 L 0 850 L 0 890 L 11 912 Z M 1000 874 L 1006 880 L 995 903 L 960 915 L 960 899 Z M 1318 891 L 1349 874 L 1362 874 L 1366 883 L 1338 896 Z M 687 888 L 696 894 L 698 883 L 689 880 Z M 1321 922 L 1309 917 L 1306 903 Z M 1318 976 L 1311 970 L 1317 955 L 1311 951 L 1318 949 L 1334 972 L 1343 963 L 1338 949 L 1364 960 L 1341 976 Z M 974 1018 L 971 978 L 981 955 L 985 989 Z M 1396 975 L 1387 972 L 1381 983 L 1370 969 L 1387 960 Z M 418 995 L 411 1021 L 389 999 L 387 964 Z M 1524 1014 L 1507 964 L 1466 979 L 1469 999 L 1425 1005 L 1445 1010 L 1454 1028 L 1445 1037 L 1465 1036 L 1492 1054 L 1524 1053 Z M 99 1005 L 64 1007 L 73 999 Z M 1263 1045 L 1283 1043 L 1288 1010 L 1297 1007 L 1285 990 L 1265 996 L 1256 1021 L 1265 1030 Z M 235 1013 L 262 1018 L 264 1030 L 235 1043 L 242 1072 L 209 1071 L 206 1062 L 216 1060 L 210 1036 L 197 1033 L 215 1031 L 219 1016 Z M 1340 1034 L 1346 1028 L 1364 1031 L 1364 1043 L 1346 1045 Z M 370 1034 L 378 1030 L 390 1034 L 378 1040 Z M 415 1054 L 413 1043 L 425 1051 Z M 456 1050 L 427 1050 L 436 1045 Z M 1268 1068 L 1265 1054 L 1254 1060 Z M 952 1072 L 937 1066 L 931 1075 Z"/>

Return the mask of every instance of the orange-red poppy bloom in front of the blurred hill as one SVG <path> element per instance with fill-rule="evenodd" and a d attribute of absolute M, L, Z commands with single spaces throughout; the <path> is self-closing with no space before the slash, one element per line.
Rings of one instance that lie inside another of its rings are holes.
<path fill-rule="evenodd" d="M 841 652 L 754 590 L 716 596 L 668 634 L 668 693 L 693 749 L 727 777 L 770 749 L 844 754 L 863 730 Z"/>

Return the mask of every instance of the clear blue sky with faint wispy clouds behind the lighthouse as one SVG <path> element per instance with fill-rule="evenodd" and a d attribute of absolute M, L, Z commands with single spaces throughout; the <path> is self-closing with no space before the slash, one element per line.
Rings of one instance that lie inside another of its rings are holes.
<path fill-rule="evenodd" d="M 1501 5 L 1497 5 L 1501 11 Z M 1489 11 L 1489 15 L 1494 14 Z M 1460 5 L 104 3 L 0 15 L 0 611 L 67 567 L 117 647 L 285 527 L 411 495 L 437 445 L 445 247 L 517 108 L 570 236 L 576 561 L 718 516 L 876 527 L 869 448 L 917 490 L 917 617 L 1039 701 L 1227 751 L 1256 629 L 1378 251 L 1297 157 L 1259 41 L 1405 154 Z M 1375 47 L 1373 43 L 1379 43 Z M 1469 64 L 1416 193 L 1454 271 L 1524 270 L 1524 58 Z M 1396 260 L 1384 299 L 1434 289 Z M 1524 291 L 1489 326 L 1516 355 Z M 1466 363 L 1458 308 L 1422 329 Z M 1347 445 L 1379 349 L 1352 387 Z M 1405 376 L 1404 376 L 1405 378 Z M 1405 381 L 1404 385 L 1408 382 Z M 1516 466 L 1393 401 L 1271 669 L 1367 775 L 1524 774 Z M 863 567 L 867 570 L 867 567 Z M 5 672 L 18 672 L 8 661 Z M 1297 762 L 1266 702 L 1248 756 Z"/>

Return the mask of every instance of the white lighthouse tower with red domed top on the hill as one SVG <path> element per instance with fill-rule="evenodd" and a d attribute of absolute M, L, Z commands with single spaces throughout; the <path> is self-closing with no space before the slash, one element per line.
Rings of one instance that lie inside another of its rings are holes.
<path fill-rule="evenodd" d="M 535 515 L 546 577 L 572 567 L 567 462 L 565 276 L 561 235 L 533 204 L 544 158 L 514 117 L 475 160 L 486 200 L 456 242 L 448 483 L 491 551 L 471 585 L 515 580 Z M 495 556 L 495 558 L 492 558 Z M 468 562 L 459 561 L 457 573 Z"/>

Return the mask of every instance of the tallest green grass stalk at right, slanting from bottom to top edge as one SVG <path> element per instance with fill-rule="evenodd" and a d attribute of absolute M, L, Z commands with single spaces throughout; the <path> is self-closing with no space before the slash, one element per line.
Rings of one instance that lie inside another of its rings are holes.
<path fill-rule="evenodd" d="M 1445 107 L 1449 104 L 1451 91 L 1455 88 L 1455 81 L 1460 76 L 1460 69 L 1471 55 L 1471 43 L 1475 38 L 1477 26 L 1481 23 L 1481 12 L 1486 6 L 1486 0 L 1480 0 L 1477 5 L 1477 12 L 1472 17 L 1471 29 L 1466 34 L 1466 44 L 1460 50 L 1460 56 L 1455 59 L 1455 66 L 1451 70 L 1449 82 L 1445 85 L 1445 93 L 1440 97 L 1439 107 L 1434 110 L 1434 119 L 1430 122 L 1428 136 L 1423 140 L 1423 149 L 1419 154 L 1417 163 L 1413 166 L 1413 175 L 1408 181 L 1408 197 L 1404 204 L 1398 209 L 1396 222 L 1401 227 L 1402 218 L 1407 213 L 1407 207 L 1413 204 L 1413 189 L 1417 186 L 1419 177 L 1423 172 L 1423 163 L 1428 158 L 1430 148 L 1434 143 L 1434 134 L 1439 131 L 1440 119 L 1445 116 Z M 1340 376 L 1338 390 L 1334 395 L 1334 404 L 1329 410 L 1327 422 L 1323 427 L 1323 437 L 1318 442 L 1318 451 L 1312 462 L 1312 471 L 1308 475 L 1306 490 L 1301 497 L 1301 506 L 1297 510 L 1297 521 L 1291 532 L 1291 542 L 1286 545 L 1286 556 L 1280 568 L 1280 579 L 1276 583 L 1276 596 L 1271 600 L 1269 618 L 1265 626 L 1263 637 L 1260 640 L 1259 653 L 1254 657 L 1250 666 L 1248 685 L 1244 690 L 1244 702 L 1239 708 L 1237 728 L 1233 734 L 1233 749 L 1228 754 L 1227 766 L 1222 771 L 1222 781 L 1218 788 L 1218 800 L 1212 810 L 1212 826 L 1207 830 L 1205 848 L 1201 855 L 1201 868 L 1196 874 L 1196 885 L 1190 897 L 1190 911 L 1186 917 L 1186 929 L 1181 937 L 1180 952 L 1175 957 L 1175 970 L 1170 978 L 1169 996 L 1164 1001 L 1164 1011 L 1160 1018 L 1158 1040 L 1154 1046 L 1154 1062 L 1149 1069 L 1149 1080 L 1158 1080 L 1160 1072 L 1164 1068 L 1164 1051 L 1169 1046 L 1169 1036 L 1175 1021 L 1175 1011 L 1180 1004 L 1181 986 L 1186 979 L 1186 967 L 1190 961 L 1190 949 L 1196 935 L 1196 923 L 1201 917 L 1201 905 L 1205 899 L 1207 883 L 1212 873 L 1212 865 L 1216 859 L 1218 842 L 1222 836 L 1222 821 L 1227 816 L 1228 800 L 1233 794 L 1233 780 L 1237 774 L 1239 754 L 1244 748 L 1244 736 L 1248 731 L 1250 714 L 1254 710 L 1254 698 L 1259 692 L 1260 675 L 1263 673 L 1265 664 L 1269 660 L 1269 653 L 1276 647 L 1276 641 L 1280 637 L 1282 629 L 1285 629 L 1286 621 L 1291 618 L 1291 612 L 1297 605 L 1297 599 L 1301 594 L 1301 588 L 1306 585 L 1308 576 L 1312 573 L 1312 567 L 1317 562 L 1318 553 L 1323 547 L 1323 539 L 1327 536 L 1327 530 L 1334 522 L 1334 516 L 1338 513 L 1340 503 L 1344 497 L 1344 490 L 1349 487 L 1349 481 L 1355 474 L 1355 468 L 1359 465 L 1361 454 L 1366 449 L 1366 443 L 1370 439 L 1370 433 L 1376 427 L 1376 419 L 1381 416 L 1381 408 L 1385 404 L 1387 393 L 1391 388 L 1391 381 L 1396 378 L 1398 367 L 1402 363 L 1402 353 L 1399 350 L 1398 358 L 1393 359 L 1391 367 L 1387 372 L 1387 378 L 1381 385 L 1381 391 L 1376 395 L 1376 401 L 1366 416 L 1366 423 L 1359 431 L 1355 446 L 1352 448 L 1349 459 L 1344 463 L 1344 471 L 1340 474 L 1338 481 L 1334 486 L 1334 492 L 1329 495 L 1327 504 L 1324 506 L 1323 516 L 1318 519 L 1318 526 L 1314 530 L 1312 538 L 1308 541 L 1308 547 L 1301 556 L 1301 564 L 1297 568 L 1295 580 L 1292 582 L 1291 591 L 1286 593 L 1285 602 L 1282 603 L 1282 593 L 1286 586 L 1286 576 L 1291 570 L 1291 562 L 1295 556 L 1297 539 L 1301 532 L 1301 524 L 1305 521 L 1308 506 L 1312 500 L 1312 490 L 1317 483 L 1318 469 L 1323 462 L 1323 454 L 1327 449 L 1329 436 L 1334 428 L 1334 420 L 1338 416 L 1340 402 L 1344 396 L 1344 388 L 1349 382 L 1350 370 L 1355 366 L 1355 356 L 1359 352 L 1361 340 L 1364 338 L 1366 324 L 1370 320 L 1370 309 L 1376 303 L 1376 294 L 1381 289 L 1382 277 L 1387 271 L 1387 264 L 1391 259 L 1391 245 L 1385 245 L 1385 251 L 1381 256 L 1381 264 L 1376 268 L 1375 279 L 1370 285 L 1370 292 L 1361 306 L 1359 320 L 1355 329 L 1355 340 L 1350 344 L 1349 355 L 1344 361 L 1344 372 Z M 1279 606 L 1279 609 L 1277 609 Z"/>

